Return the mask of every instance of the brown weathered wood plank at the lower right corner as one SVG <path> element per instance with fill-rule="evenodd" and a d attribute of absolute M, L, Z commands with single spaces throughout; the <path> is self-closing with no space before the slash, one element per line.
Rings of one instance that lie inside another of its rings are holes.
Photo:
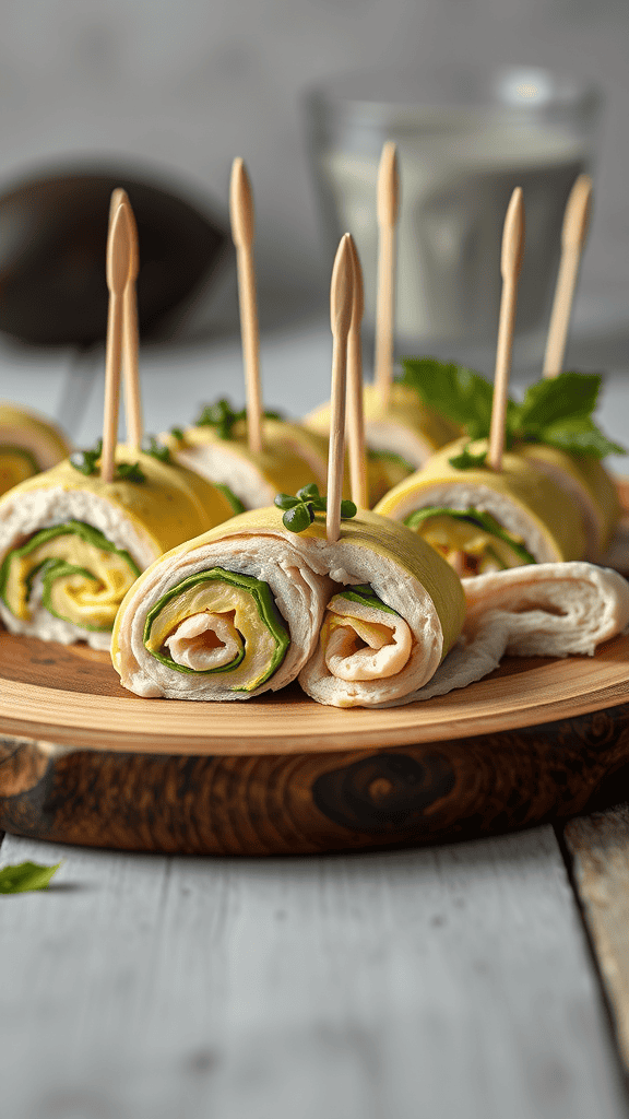
<path fill-rule="evenodd" d="M 571 820 L 564 835 L 629 1072 L 629 805 Z"/>

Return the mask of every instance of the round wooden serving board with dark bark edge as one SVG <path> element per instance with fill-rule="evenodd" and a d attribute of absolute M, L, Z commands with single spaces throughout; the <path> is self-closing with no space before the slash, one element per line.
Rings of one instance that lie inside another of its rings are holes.
<path fill-rule="evenodd" d="M 241 855 L 469 838 L 574 815 L 629 772 L 629 637 L 339 711 L 297 686 L 140 699 L 103 653 L 1 632 L 0 735 L 0 829 L 19 835 Z"/>

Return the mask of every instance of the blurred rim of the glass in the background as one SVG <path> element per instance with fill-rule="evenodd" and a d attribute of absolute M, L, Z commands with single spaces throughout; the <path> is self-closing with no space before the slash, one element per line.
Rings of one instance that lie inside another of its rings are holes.
<path fill-rule="evenodd" d="M 570 117 L 594 123 L 604 104 L 601 86 L 585 77 L 539 66 L 475 68 L 445 65 L 360 70 L 306 91 L 308 111 L 319 120 L 407 130 L 487 113 L 529 121 Z"/>

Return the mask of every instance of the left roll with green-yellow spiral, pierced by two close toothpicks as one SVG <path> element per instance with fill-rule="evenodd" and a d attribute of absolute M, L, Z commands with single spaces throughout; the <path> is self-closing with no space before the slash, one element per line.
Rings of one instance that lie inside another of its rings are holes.
<path fill-rule="evenodd" d="M 76 452 L 0 499 L 0 615 L 13 633 L 109 649 L 140 572 L 232 516 L 222 489 L 181 467 L 119 446 L 104 482 L 98 454 Z"/>

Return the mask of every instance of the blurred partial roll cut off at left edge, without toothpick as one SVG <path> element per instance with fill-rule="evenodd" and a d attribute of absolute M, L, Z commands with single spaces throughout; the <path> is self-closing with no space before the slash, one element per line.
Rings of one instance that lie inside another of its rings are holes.
<path fill-rule="evenodd" d="M 69 452 L 65 435 L 49 420 L 0 403 L 0 495 L 56 466 Z"/>

